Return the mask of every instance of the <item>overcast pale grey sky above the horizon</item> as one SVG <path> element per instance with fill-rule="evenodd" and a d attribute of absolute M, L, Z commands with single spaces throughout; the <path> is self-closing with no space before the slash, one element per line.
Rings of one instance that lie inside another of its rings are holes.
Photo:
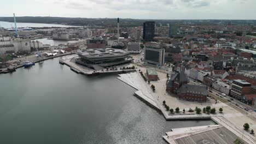
<path fill-rule="evenodd" d="M 256 19 L 256 0 L 0 0 L 0 16 Z"/>

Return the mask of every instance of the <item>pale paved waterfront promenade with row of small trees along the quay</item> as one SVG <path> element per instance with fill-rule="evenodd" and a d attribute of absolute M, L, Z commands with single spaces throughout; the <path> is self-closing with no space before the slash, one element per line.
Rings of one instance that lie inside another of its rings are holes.
<path fill-rule="evenodd" d="M 145 71 L 145 69 L 143 68 L 139 68 L 139 69 L 141 69 L 142 71 Z M 164 83 L 167 80 L 167 78 L 164 79 L 164 76 L 166 76 L 165 74 L 159 73 L 160 80 L 157 82 L 150 82 L 150 84 L 148 84 L 142 79 L 138 69 L 136 73 L 120 74 L 119 76 L 120 76 L 118 77 L 119 80 L 127 83 L 127 85 L 130 85 L 133 88 L 136 88 L 138 90 L 136 94 L 139 97 L 147 101 L 147 103 L 155 105 L 155 107 L 157 107 L 162 112 L 166 120 L 212 119 L 214 122 L 232 131 L 232 133 L 236 134 L 238 137 L 241 137 L 241 136 L 245 137 L 244 140 L 247 143 L 256 143 L 255 137 L 249 134 L 248 131 L 243 130 L 242 128 L 245 122 L 249 122 L 249 124 L 251 125 L 251 128 L 255 129 L 256 122 L 253 121 L 253 119 L 249 118 L 248 116 L 244 115 L 243 113 L 230 107 L 229 105 L 226 105 L 225 103 L 219 102 L 218 104 L 212 104 L 211 102 L 208 102 L 206 104 L 203 104 L 203 103 L 197 103 L 197 102 L 191 102 L 191 101 L 185 101 L 185 100 L 178 100 L 176 97 L 173 97 L 165 93 Z M 150 88 L 152 84 L 155 85 L 156 92 L 153 92 L 152 89 Z M 166 98 L 168 98 L 168 100 L 166 100 Z M 170 105 L 170 107 L 172 107 L 173 109 L 175 109 L 176 107 L 179 107 L 180 111 L 185 109 L 186 112 L 185 113 L 179 112 L 172 115 L 170 114 L 169 111 L 166 111 L 165 107 L 162 105 L 162 100 L 168 101 L 168 105 Z M 216 107 L 216 114 L 206 114 L 206 113 L 196 114 L 195 112 L 194 113 L 187 112 L 190 106 L 194 106 L 194 107 L 191 107 L 192 109 L 194 109 L 195 106 L 202 108 L 209 104 L 211 104 L 212 107 Z M 218 112 L 219 107 L 223 107 L 224 109 L 223 113 Z M 241 119 L 242 121 L 239 121 L 238 119 Z M 166 136 L 164 136 L 163 138 L 165 139 L 165 137 Z M 167 141 L 167 142 L 172 143 L 171 141 Z"/>

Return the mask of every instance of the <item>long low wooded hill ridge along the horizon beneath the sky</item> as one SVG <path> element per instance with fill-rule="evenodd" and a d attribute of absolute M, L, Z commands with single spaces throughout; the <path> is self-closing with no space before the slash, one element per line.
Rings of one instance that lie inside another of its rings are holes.
<path fill-rule="evenodd" d="M 0 17 L 0 21 L 14 22 L 13 17 Z M 80 17 L 50 17 L 50 16 L 22 16 L 16 17 L 17 22 L 32 22 L 32 23 L 55 23 L 71 26 L 104 26 L 113 27 L 117 26 L 117 19 L 92 19 L 92 18 L 80 18 Z M 182 23 L 196 24 L 196 25 L 226 25 L 231 22 L 232 25 L 251 25 L 256 26 L 256 20 L 141 20 L 141 19 L 120 19 L 120 25 L 123 27 L 135 27 L 143 26 L 144 21 L 156 21 L 156 25 L 162 24 L 166 26 L 167 23 L 176 23 L 181 25 Z"/>

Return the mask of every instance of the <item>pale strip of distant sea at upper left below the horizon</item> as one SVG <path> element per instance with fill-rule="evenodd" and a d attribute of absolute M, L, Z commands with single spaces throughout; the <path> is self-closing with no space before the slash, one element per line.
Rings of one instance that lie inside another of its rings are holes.
<path fill-rule="evenodd" d="M 16 22 L 17 27 L 76 27 L 76 26 L 66 26 L 48 23 L 26 23 L 26 22 Z M 0 21 L 0 27 L 11 28 L 15 27 L 14 22 Z"/>

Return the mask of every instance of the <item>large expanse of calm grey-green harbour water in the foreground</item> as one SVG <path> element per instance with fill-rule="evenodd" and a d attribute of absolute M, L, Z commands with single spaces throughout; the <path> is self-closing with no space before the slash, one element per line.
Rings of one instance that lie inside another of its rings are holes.
<path fill-rule="evenodd" d="M 171 128 L 212 121 L 166 121 L 117 75 L 76 74 L 59 58 L 0 75 L 0 143 L 166 143 Z"/>

